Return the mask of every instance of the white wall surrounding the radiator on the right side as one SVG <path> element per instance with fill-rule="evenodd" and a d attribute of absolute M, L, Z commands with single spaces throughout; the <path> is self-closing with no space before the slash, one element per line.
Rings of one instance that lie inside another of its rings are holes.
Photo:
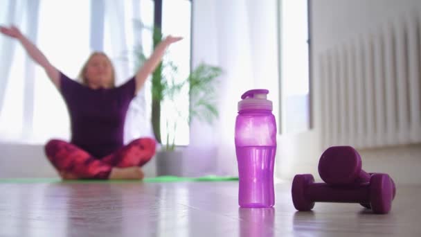
<path fill-rule="evenodd" d="M 312 85 L 314 130 L 280 137 L 280 175 L 291 179 L 294 173 L 312 173 L 318 178 L 321 152 L 321 93 L 318 87 L 318 55 L 330 47 L 364 34 L 384 21 L 408 12 L 420 12 L 418 0 L 318 0 L 311 2 Z M 421 146 L 361 150 L 363 168 L 368 172 L 389 173 L 397 183 L 421 182 Z"/>

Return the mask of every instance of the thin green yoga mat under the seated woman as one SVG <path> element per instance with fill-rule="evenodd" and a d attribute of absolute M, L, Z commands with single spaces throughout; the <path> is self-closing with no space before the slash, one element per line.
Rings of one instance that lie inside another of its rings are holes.
<path fill-rule="evenodd" d="M 238 177 L 223 177 L 208 175 L 202 177 L 177 177 L 177 176 L 159 176 L 145 177 L 143 180 L 104 180 L 104 179 L 78 179 L 78 180 L 62 180 L 60 178 L 6 178 L 0 179 L 0 184 L 28 184 L 28 183 L 93 183 L 93 182 L 138 182 L 138 183 L 165 183 L 165 182 L 225 182 L 237 181 Z"/>

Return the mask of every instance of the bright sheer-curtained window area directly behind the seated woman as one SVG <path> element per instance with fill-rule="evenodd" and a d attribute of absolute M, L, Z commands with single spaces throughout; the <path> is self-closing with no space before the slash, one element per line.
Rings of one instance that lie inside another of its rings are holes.
<path fill-rule="evenodd" d="M 72 78 L 91 51 L 105 51 L 116 68 L 116 84 L 121 85 L 135 73 L 132 50 L 134 44 L 141 44 L 141 35 L 132 26 L 133 19 L 140 19 L 141 6 L 139 0 L 2 0 L 0 24 L 18 26 L 57 69 Z M 71 12 L 63 11 L 75 9 L 80 9 L 78 19 L 66 19 Z M 52 45 L 59 45 L 58 49 Z M 64 103 L 44 71 L 17 40 L 0 35 L 0 51 L 0 141 L 42 144 L 52 137 L 69 139 Z M 152 136 L 145 94 L 142 89 L 129 107 L 126 143 Z"/>

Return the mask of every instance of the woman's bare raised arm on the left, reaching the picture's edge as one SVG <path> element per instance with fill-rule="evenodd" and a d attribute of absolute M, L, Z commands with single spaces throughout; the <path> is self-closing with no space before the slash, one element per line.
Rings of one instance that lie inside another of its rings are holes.
<path fill-rule="evenodd" d="M 43 67 L 46 71 L 48 77 L 51 79 L 55 87 L 57 89 L 60 89 L 60 73 L 59 71 L 51 65 L 50 62 L 48 62 L 45 55 L 39 51 L 37 46 L 35 46 L 32 42 L 28 40 L 28 38 L 23 35 L 18 28 L 15 26 L 12 26 L 10 28 L 0 26 L 0 32 L 4 35 L 8 35 L 12 38 L 15 38 L 21 42 L 22 46 L 24 46 L 24 49 L 26 52 L 30 55 L 30 58 L 32 58 L 39 66 Z"/>

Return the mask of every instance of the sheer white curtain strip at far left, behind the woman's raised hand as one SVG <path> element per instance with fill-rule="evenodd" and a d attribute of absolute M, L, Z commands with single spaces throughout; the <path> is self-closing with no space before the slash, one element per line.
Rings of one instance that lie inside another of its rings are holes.
<path fill-rule="evenodd" d="M 28 39 L 36 44 L 39 1 L 1 1 L 0 8 L 5 11 L 1 14 L 4 18 L 0 19 L 0 24 L 18 26 Z M 0 139 L 10 137 L 14 140 L 25 140 L 32 136 L 33 131 L 35 65 L 26 59 L 23 65 L 24 70 L 18 73 L 20 77 L 10 77 L 12 62 L 14 58 L 19 57 L 19 53 L 15 51 L 17 44 L 16 40 L 0 37 Z M 6 98 L 11 97 L 7 95 L 15 93 L 12 88 L 16 85 L 23 85 L 22 92 L 19 93 L 21 98 L 18 101 L 7 101 Z M 8 110 L 4 109 L 6 103 L 9 106 Z M 13 107 L 16 106 L 21 106 L 21 109 L 14 109 Z M 16 112 L 21 116 L 15 120 L 11 116 L 6 117 L 6 112 Z"/>

